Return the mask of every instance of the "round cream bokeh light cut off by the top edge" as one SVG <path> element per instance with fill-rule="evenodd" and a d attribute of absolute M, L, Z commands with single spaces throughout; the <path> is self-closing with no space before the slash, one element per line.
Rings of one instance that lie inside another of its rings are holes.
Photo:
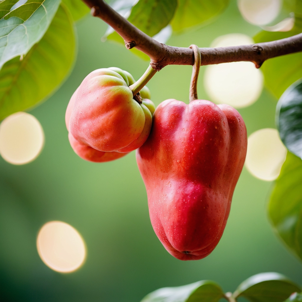
<path fill-rule="evenodd" d="M 281 10 L 281 0 L 238 0 L 238 8 L 243 18 L 255 25 L 265 25 L 273 21 Z"/>

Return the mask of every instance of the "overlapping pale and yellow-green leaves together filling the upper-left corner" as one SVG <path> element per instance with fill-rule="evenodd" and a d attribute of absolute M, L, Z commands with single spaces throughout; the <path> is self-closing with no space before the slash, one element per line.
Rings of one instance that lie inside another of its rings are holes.
<path fill-rule="evenodd" d="M 76 57 L 80 0 L 0 2 L 0 120 L 33 107 L 62 84 Z"/>

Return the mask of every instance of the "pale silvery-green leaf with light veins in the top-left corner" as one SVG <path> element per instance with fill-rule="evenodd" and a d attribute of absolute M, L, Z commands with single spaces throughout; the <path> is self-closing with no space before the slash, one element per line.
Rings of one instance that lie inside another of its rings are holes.
<path fill-rule="evenodd" d="M 45 0 L 43 5 L 40 5 L 25 21 L 15 16 L 0 20 L 0 69 L 8 60 L 25 55 L 35 43 L 41 40 L 59 4 L 60 0 Z M 25 12 L 19 11 L 19 13 L 24 18 L 28 16 Z"/>

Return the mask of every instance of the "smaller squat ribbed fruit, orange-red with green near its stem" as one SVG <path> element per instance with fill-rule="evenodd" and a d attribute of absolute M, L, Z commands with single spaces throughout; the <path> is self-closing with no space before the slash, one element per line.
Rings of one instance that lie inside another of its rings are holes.
<path fill-rule="evenodd" d="M 65 121 L 69 142 L 80 157 L 94 162 L 114 160 L 146 141 L 153 102 L 139 104 L 133 99 L 128 85 L 134 82 L 129 72 L 111 67 L 91 72 L 77 88 Z"/>

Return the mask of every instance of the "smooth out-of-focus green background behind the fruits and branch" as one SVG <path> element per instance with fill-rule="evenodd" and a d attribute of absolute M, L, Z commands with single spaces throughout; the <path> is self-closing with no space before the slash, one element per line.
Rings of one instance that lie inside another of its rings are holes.
<path fill-rule="evenodd" d="M 277 271 L 302 284 L 301 263 L 273 233 L 266 214 L 271 182 L 245 168 L 233 197 L 220 243 L 205 259 L 182 262 L 165 251 L 153 232 L 146 190 L 132 152 L 122 159 L 91 163 L 72 151 L 64 122 L 66 106 L 92 70 L 117 66 L 138 79 L 148 66 L 125 47 L 102 43 L 107 26 L 97 18 L 77 23 L 78 57 L 64 85 L 30 111 L 43 126 L 46 143 L 32 163 L 14 166 L 0 159 L 0 300 L 140 301 L 160 287 L 211 279 L 234 291 L 253 274 Z M 169 45 L 209 47 L 228 33 L 259 31 L 243 20 L 232 1 L 214 23 L 172 36 Z M 149 82 L 156 105 L 167 98 L 188 103 L 191 66 L 167 66 Z M 204 67 L 198 82 L 203 88 Z M 252 106 L 240 109 L 248 131 L 275 127 L 276 99 L 266 90 Z M 87 244 L 87 260 L 71 274 L 48 268 L 38 256 L 36 236 L 51 220 L 74 226 Z"/>

